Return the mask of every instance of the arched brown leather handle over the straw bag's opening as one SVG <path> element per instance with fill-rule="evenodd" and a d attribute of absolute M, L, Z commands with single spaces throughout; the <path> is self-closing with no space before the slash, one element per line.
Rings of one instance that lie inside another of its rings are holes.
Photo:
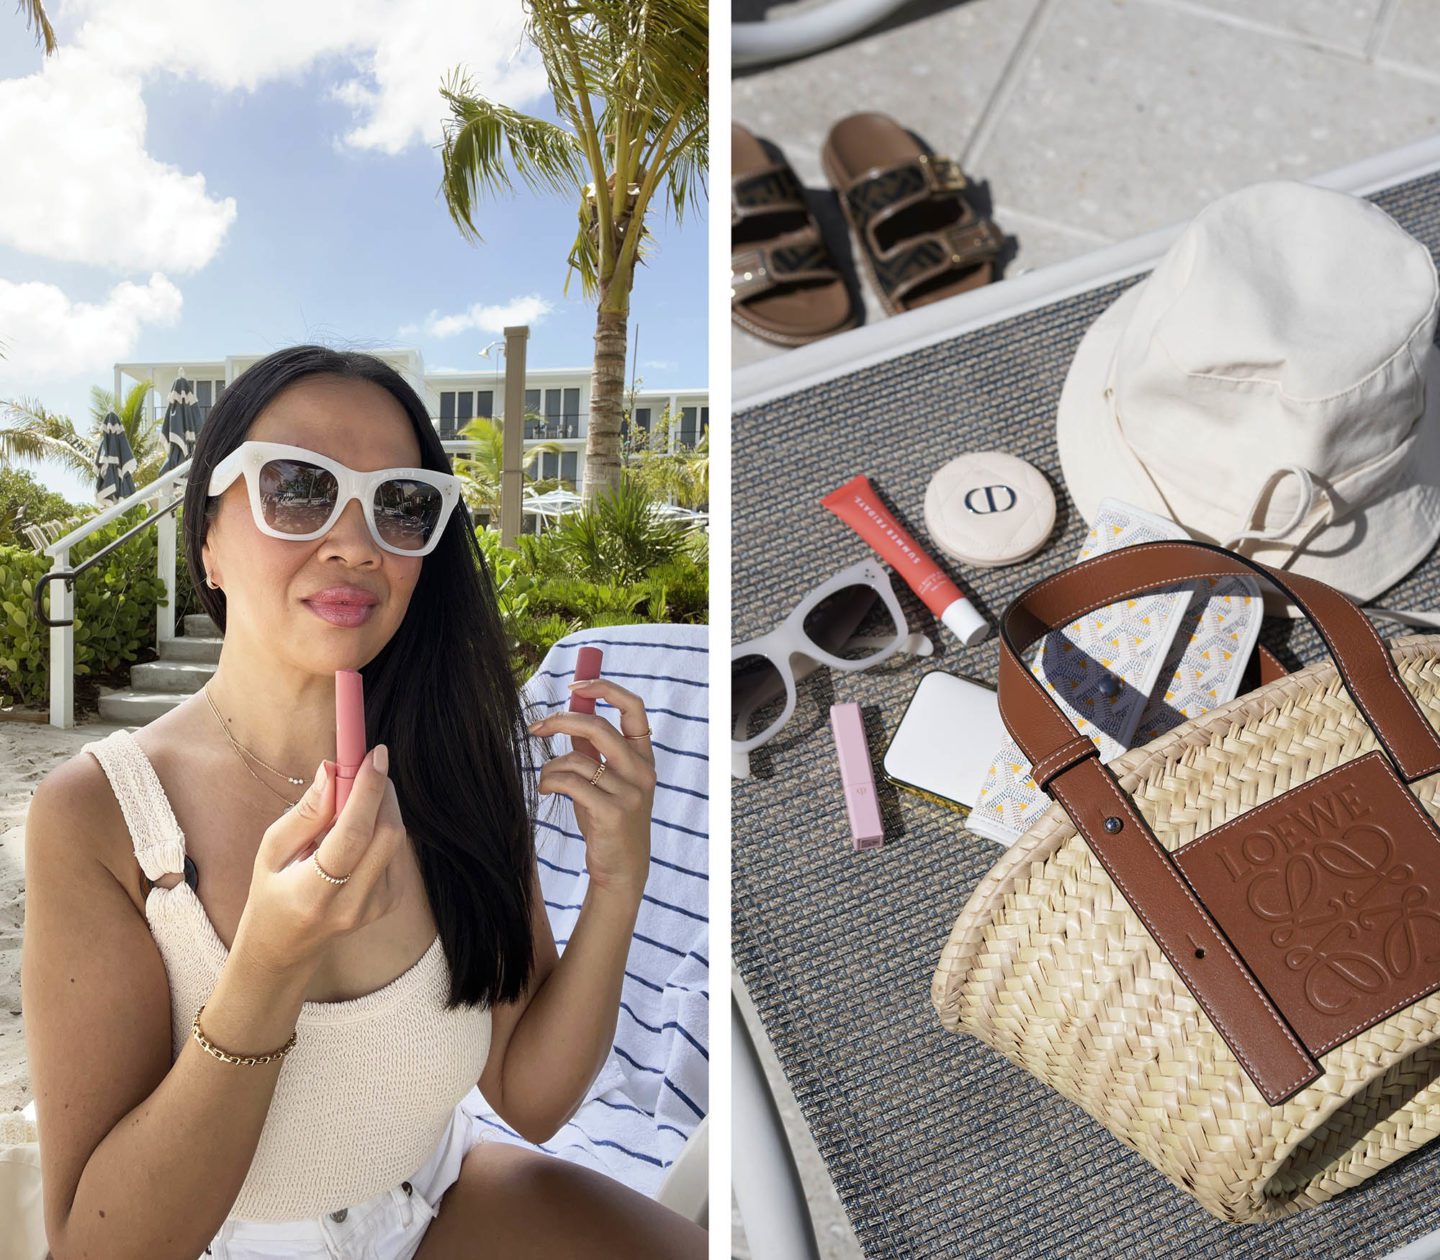
<path fill-rule="evenodd" d="M 1440 736 L 1421 714 L 1375 628 L 1333 586 L 1284 573 L 1211 543 L 1139 543 L 1037 582 L 1005 609 L 999 624 L 999 711 L 1045 788 L 1096 746 L 1079 734 L 1044 684 L 1021 660 L 1053 629 L 1119 599 L 1200 577 L 1259 576 L 1277 586 L 1325 639 L 1355 707 L 1407 783 L 1440 770 Z"/>

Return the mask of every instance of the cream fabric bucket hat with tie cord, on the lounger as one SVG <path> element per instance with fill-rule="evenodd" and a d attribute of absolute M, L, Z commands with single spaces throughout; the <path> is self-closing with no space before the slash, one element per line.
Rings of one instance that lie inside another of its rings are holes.
<path fill-rule="evenodd" d="M 1436 266 L 1293 180 L 1205 207 L 1090 325 L 1060 396 L 1086 520 L 1113 495 L 1368 600 L 1440 537 Z"/>

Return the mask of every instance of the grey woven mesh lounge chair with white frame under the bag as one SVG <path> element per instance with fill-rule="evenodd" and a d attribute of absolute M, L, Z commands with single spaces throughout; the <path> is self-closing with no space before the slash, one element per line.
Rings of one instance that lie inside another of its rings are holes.
<path fill-rule="evenodd" d="M 1440 140 L 1316 183 L 1374 197 L 1440 249 Z M 1022 588 L 1068 563 L 1084 524 L 1064 494 L 1054 441 L 1066 369 L 1089 324 L 1176 230 L 739 370 L 734 639 L 763 634 L 776 609 L 865 554 L 818 503 L 857 472 L 871 474 L 917 530 L 926 481 L 962 451 L 1005 449 L 1050 475 L 1060 498 L 1050 546 L 1022 564 L 959 569 L 992 622 Z M 1440 606 L 1440 563 L 1427 562 L 1385 602 Z M 927 668 L 995 681 L 994 639 L 962 649 L 907 590 L 901 603 L 910 628 L 932 631 L 940 647 Z M 1264 641 L 1290 662 L 1320 652 L 1296 625 L 1272 625 Z M 955 914 L 999 850 L 966 832 L 959 815 L 891 791 L 883 793 L 884 848 L 852 852 L 825 723 L 831 701 L 858 701 L 893 730 L 920 674 L 910 662 L 816 672 L 791 727 L 753 755 L 756 776 L 733 793 L 736 971 L 865 1254 L 1380 1257 L 1411 1244 L 1391 1260 L 1440 1256 L 1440 1143 L 1323 1208 L 1225 1227 L 1079 1107 L 975 1038 L 940 1028 L 930 976 Z M 881 750 L 871 749 L 877 759 Z M 742 1045 L 737 1063 L 743 1054 Z M 770 1103 L 737 1086 L 737 1165 L 762 1159 L 766 1142 L 766 1158 L 785 1158 Z M 780 1175 L 736 1179 L 753 1260 L 809 1248 L 792 1185 Z M 775 1220 L 799 1240 L 792 1250 L 775 1247 Z"/>

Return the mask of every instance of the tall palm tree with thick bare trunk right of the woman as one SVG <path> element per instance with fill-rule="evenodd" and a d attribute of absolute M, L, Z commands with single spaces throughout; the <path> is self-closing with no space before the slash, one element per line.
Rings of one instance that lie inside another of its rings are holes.
<path fill-rule="evenodd" d="M 441 190 L 471 240 L 481 239 L 480 194 L 510 192 L 511 171 L 537 192 L 577 199 L 567 262 L 596 301 L 585 446 L 585 492 L 595 498 L 621 480 L 626 324 L 645 216 L 657 196 L 677 223 L 704 203 L 707 9 L 706 0 L 524 0 L 524 9 L 559 121 L 490 101 L 455 71 L 441 88 L 451 107 Z"/>

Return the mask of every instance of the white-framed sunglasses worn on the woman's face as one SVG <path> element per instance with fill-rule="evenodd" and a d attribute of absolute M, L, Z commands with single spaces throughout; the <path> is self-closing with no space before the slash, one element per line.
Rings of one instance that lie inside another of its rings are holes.
<path fill-rule="evenodd" d="M 334 528 L 351 498 L 360 500 L 370 534 L 396 556 L 428 556 L 459 503 L 459 478 L 433 468 L 357 472 L 338 459 L 284 442 L 240 442 L 215 465 L 209 495 L 236 477 L 249 487 L 255 527 L 272 539 L 307 543 Z"/>

